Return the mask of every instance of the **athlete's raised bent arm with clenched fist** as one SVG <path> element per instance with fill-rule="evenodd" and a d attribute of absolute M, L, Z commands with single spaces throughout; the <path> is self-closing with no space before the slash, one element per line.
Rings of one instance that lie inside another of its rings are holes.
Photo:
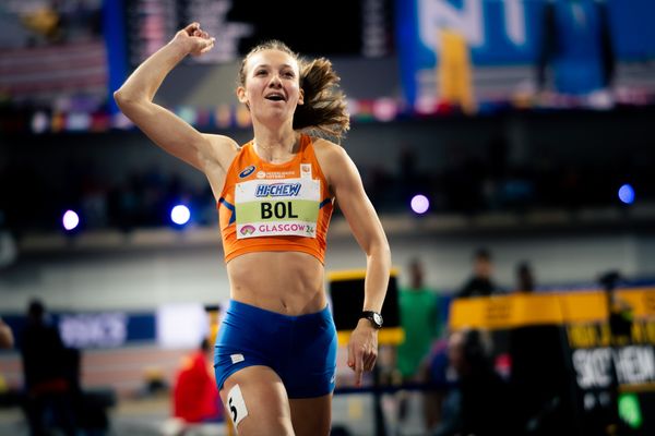
<path fill-rule="evenodd" d="M 139 65 L 114 93 L 120 110 L 155 144 L 207 177 L 215 173 L 216 166 L 224 170 L 229 166 L 236 143 L 227 136 L 200 133 L 175 113 L 154 104 L 153 98 L 166 75 L 184 57 L 200 56 L 213 46 L 214 38 L 210 38 L 198 23 L 192 23 Z"/>

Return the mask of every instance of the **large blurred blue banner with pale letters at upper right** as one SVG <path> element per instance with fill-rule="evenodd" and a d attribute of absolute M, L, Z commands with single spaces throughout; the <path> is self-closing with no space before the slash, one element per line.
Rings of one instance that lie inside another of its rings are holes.
<path fill-rule="evenodd" d="M 595 90 L 587 87 L 592 80 L 599 80 L 608 57 L 619 62 L 655 58 L 655 28 L 644 19 L 654 14 L 651 0 L 396 0 L 396 47 L 405 100 L 425 110 L 443 97 L 448 81 L 439 70 L 449 69 L 452 50 L 446 36 L 452 34 L 465 40 L 474 76 L 469 86 L 480 102 L 507 101 L 524 94 L 535 85 L 540 57 L 551 50 L 558 53 L 550 64 L 557 70 L 557 90 Z M 555 44 L 552 38 L 557 38 Z M 453 71 L 454 76 L 466 71 L 463 64 Z M 648 71 L 644 70 L 644 76 L 652 75 Z M 655 86 L 643 81 L 620 85 Z"/>

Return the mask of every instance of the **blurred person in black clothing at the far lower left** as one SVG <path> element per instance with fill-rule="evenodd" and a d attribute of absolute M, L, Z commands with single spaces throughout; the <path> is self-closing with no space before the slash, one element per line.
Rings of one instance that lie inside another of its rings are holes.
<path fill-rule="evenodd" d="M 70 362 L 75 354 L 63 346 L 59 329 L 49 323 L 39 300 L 29 302 L 20 349 L 31 436 L 49 434 L 51 428 L 59 428 L 67 436 L 75 435 L 73 395 L 78 383 L 70 371 L 78 367 Z"/>

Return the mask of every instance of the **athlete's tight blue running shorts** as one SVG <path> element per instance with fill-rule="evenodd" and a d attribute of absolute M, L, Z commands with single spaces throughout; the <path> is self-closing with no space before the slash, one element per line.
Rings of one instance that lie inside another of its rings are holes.
<path fill-rule="evenodd" d="M 322 397 L 334 390 L 336 347 L 327 306 L 288 316 L 231 300 L 216 337 L 216 384 L 222 389 L 235 372 L 264 365 L 277 373 L 289 398 Z"/>

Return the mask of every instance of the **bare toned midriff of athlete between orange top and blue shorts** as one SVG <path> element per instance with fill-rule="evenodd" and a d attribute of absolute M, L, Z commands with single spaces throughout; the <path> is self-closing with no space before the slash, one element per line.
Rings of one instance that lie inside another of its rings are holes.
<path fill-rule="evenodd" d="M 325 308 L 324 267 L 299 252 L 258 252 L 227 263 L 230 298 L 284 315 L 306 315 Z"/>

